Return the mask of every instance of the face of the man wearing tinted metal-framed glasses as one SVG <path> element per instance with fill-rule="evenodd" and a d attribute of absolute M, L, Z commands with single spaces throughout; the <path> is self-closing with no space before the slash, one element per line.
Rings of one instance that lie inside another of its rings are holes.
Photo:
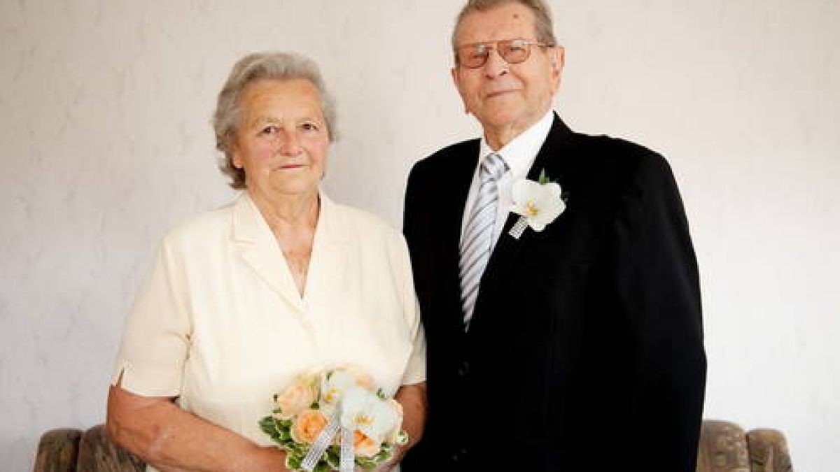
<path fill-rule="evenodd" d="M 536 42 L 531 10 L 519 3 L 508 3 L 486 12 L 470 13 L 459 25 L 455 47 L 502 39 Z M 494 49 L 484 66 L 469 69 L 456 64 L 452 77 L 466 111 L 478 118 L 490 141 L 496 136 L 501 140 L 497 144 L 504 145 L 549 111 L 562 69 L 562 47 L 532 45 L 523 62 L 508 64 Z"/>

